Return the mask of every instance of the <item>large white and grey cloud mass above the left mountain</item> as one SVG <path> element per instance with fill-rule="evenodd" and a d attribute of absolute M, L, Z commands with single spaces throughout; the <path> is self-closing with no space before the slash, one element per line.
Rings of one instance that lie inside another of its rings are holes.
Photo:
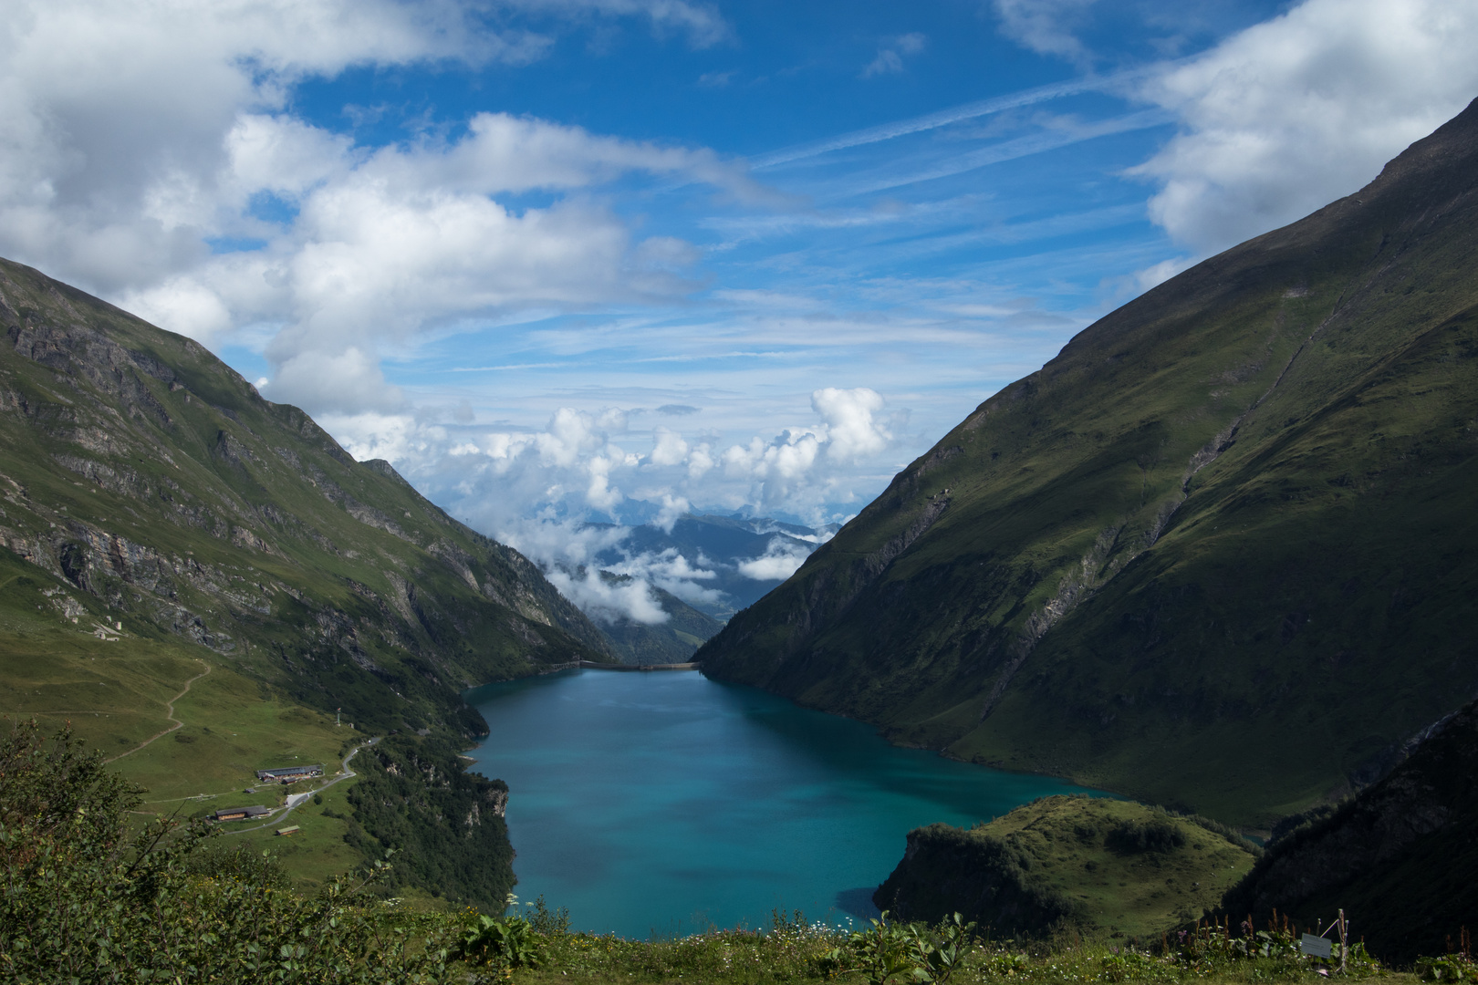
<path fill-rule="evenodd" d="M 683 0 L 511 6 L 646 18 L 699 46 L 727 31 Z M 349 66 L 523 64 L 550 43 L 491 28 L 477 4 L 16 0 L 6 13 L 0 254 L 211 346 L 250 328 L 270 338 L 269 396 L 318 412 L 399 408 L 378 360 L 467 319 L 689 291 L 698 253 L 633 235 L 591 195 L 607 182 L 764 195 L 708 149 L 526 117 L 364 148 L 294 114 L 294 86 Z M 498 201 L 529 191 L 550 202 Z"/>

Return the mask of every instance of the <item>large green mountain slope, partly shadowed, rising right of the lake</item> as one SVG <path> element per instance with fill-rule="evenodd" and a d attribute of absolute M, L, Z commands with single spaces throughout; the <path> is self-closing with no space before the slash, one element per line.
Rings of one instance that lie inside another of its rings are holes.
<path fill-rule="evenodd" d="M 706 673 L 1239 824 L 1478 693 L 1478 106 L 986 400 Z"/>

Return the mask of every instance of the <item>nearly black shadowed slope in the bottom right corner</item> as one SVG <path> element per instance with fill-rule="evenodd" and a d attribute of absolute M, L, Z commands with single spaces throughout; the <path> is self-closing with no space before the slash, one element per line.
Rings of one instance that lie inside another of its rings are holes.
<path fill-rule="evenodd" d="M 1274 842 L 1222 908 L 1304 923 L 1344 908 L 1386 960 L 1451 951 L 1448 938 L 1478 914 L 1478 703 L 1391 775 Z"/>

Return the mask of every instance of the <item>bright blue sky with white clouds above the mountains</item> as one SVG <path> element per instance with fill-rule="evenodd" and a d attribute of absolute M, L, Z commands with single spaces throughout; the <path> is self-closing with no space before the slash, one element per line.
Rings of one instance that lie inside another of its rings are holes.
<path fill-rule="evenodd" d="M 544 558 L 845 518 L 1478 95 L 1472 0 L 13 6 L 0 253 Z"/>

